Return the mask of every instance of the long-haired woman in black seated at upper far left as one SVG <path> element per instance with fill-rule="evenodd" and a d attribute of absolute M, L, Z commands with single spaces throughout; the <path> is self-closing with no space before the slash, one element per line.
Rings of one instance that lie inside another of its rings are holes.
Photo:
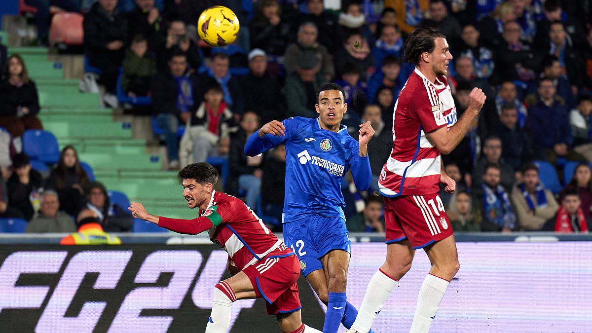
<path fill-rule="evenodd" d="M 25 130 L 43 129 L 37 118 L 37 87 L 29 78 L 21 56 L 8 57 L 4 71 L 0 81 L 0 127 L 5 127 L 13 138 L 21 137 Z"/>

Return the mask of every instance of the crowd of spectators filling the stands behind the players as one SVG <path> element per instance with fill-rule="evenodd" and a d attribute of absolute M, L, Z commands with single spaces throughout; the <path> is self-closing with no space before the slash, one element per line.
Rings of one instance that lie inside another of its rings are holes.
<path fill-rule="evenodd" d="M 126 12 L 129 1 L 98 0 L 85 12 L 84 55 L 99 69 L 105 103 L 155 117 L 165 132 L 168 169 L 227 158 L 224 191 L 250 207 L 261 198 L 258 213 L 273 217 L 266 222 L 281 230 L 285 148 L 247 158 L 246 138 L 271 120 L 317 117 L 318 87 L 336 82 L 346 92 L 343 123 L 350 133 L 363 121 L 375 130 L 368 148 L 371 190 L 358 193 L 351 177 L 342 187 L 348 229 L 384 232 L 378 177 L 392 148 L 392 111 L 413 71 L 402 61 L 403 44 L 415 27 L 436 27 L 454 56 L 448 80 L 457 115 L 468 107 L 472 88 L 487 95 L 478 121 L 458 148 L 443 155 L 458 188 L 452 195 L 440 191 L 453 229 L 592 227 L 592 2 L 245 3 L 136 0 Z M 226 5 L 239 16 L 233 44 L 211 48 L 197 36 L 197 19 L 211 5 Z M 38 31 L 43 41 L 47 27 Z M 25 63 L 19 56 L 1 61 L 0 126 L 13 138 L 42 129 Z M 85 75 L 86 87 L 92 78 Z M 127 97 L 149 97 L 151 107 L 120 105 L 118 88 Z M 181 136 L 179 126 L 185 127 Z M 0 217 L 31 220 L 31 232 L 70 232 L 72 216 L 91 209 L 105 230 L 131 229 L 126 207 L 108 203 L 104 186 L 89 181 L 72 146 L 44 180 L 26 155 L 16 153 L 18 139 L 13 142 L 12 161 L 4 163 L 12 167 L 4 167 L 0 178 Z M 545 187 L 552 178 L 565 185 Z"/>

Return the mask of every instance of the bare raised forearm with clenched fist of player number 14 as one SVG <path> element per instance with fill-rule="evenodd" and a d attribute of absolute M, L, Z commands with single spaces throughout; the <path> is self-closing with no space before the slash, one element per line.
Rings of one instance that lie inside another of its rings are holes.
<path fill-rule="evenodd" d="M 427 133 L 430 142 L 443 154 L 448 155 L 465 137 L 466 132 L 471 128 L 471 124 L 478 116 L 483 104 L 485 103 L 485 94 L 479 88 L 473 88 L 469 94 L 469 107 L 466 108 L 461 119 L 449 129 L 440 127 L 439 129 Z"/>

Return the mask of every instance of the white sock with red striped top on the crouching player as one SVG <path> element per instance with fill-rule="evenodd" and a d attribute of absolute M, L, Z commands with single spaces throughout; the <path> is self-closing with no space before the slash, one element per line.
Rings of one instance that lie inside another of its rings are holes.
<path fill-rule="evenodd" d="M 205 333 L 226 333 L 230 326 L 230 309 L 236 296 L 226 281 L 216 284 L 212 312 Z"/>

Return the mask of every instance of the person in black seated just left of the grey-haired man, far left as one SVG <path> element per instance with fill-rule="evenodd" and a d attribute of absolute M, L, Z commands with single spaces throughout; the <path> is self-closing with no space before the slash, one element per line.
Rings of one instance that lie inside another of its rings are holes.
<path fill-rule="evenodd" d="M 22 213 L 25 220 L 30 220 L 36 211 L 33 202 L 43 180 L 39 172 L 31 169 L 29 156 L 25 153 L 18 153 L 12 158 L 12 168 L 14 172 L 7 184 L 10 204 Z"/>

